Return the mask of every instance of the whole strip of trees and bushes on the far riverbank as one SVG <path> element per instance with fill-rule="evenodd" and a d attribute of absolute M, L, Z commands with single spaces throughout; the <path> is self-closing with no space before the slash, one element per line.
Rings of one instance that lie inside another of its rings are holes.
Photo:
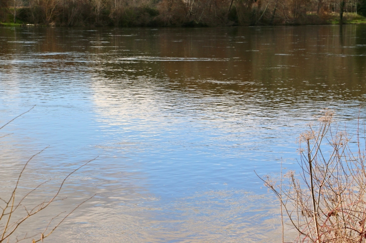
<path fill-rule="evenodd" d="M 0 22 L 3 25 L 230 26 L 366 23 L 364 16 L 366 0 L 0 0 Z"/>

